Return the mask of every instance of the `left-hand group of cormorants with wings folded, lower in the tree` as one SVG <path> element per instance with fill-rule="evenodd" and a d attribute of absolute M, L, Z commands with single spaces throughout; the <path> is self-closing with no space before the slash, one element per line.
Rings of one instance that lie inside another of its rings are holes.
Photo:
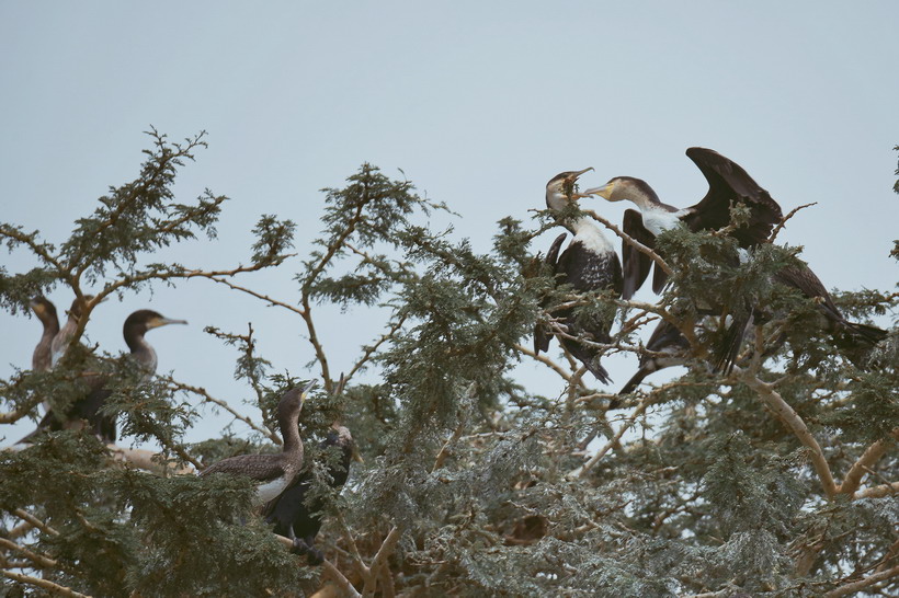
<path fill-rule="evenodd" d="M 92 296 L 77 298 L 61 329 L 56 307 L 48 299 L 37 297 L 31 301 L 32 311 L 43 324 L 43 334 L 32 356 L 34 371 L 48 371 L 59 363 L 78 329 L 84 308 L 91 300 Z M 164 318 L 151 310 L 138 310 L 128 315 L 123 326 L 123 335 L 130 349 L 129 357 L 140 368 L 144 380 L 156 372 L 157 366 L 156 352 L 147 343 L 145 334 L 155 327 L 186 323 L 184 320 Z M 96 372 L 82 372 L 80 378 L 87 384 L 84 393 L 62 414 L 54 413 L 45 402 L 46 413 L 37 424 L 37 429 L 19 440 L 16 445 L 29 445 L 46 430 L 81 429 L 86 426 L 104 444 L 115 442 L 115 416 L 101 413 L 104 402 L 112 393 L 107 388 L 109 377 Z M 312 486 L 314 472 L 308 463 L 304 463 L 298 422 L 303 403 L 316 382 L 311 380 L 305 387 L 291 389 L 281 396 L 277 405 L 277 422 L 283 439 L 281 452 L 230 457 L 213 463 L 200 473 L 223 473 L 253 480 L 257 483 L 255 503 L 262 508 L 265 520 L 274 526 L 275 533 L 289 538 L 294 545 L 293 552 L 306 554 L 310 565 L 323 561 L 321 552 L 314 547 L 314 540 L 321 527 L 326 501 L 320 494 L 307 499 Z M 320 442 L 320 453 L 327 457 L 327 451 L 331 447 L 337 447 L 340 451 L 340 459 L 337 462 L 331 461 L 332 464 L 327 467 L 326 471 L 331 487 L 339 491 L 346 482 L 350 460 L 357 458 L 357 453 L 350 430 L 337 422 Z"/>

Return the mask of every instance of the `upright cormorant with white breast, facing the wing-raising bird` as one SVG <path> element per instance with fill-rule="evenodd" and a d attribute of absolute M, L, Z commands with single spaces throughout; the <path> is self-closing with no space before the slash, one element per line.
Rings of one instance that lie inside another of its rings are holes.
<path fill-rule="evenodd" d="M 578 197 L 574 185 L 578 177 L 592 170 L 562 172 L 546 184 L 546 206 L 554 210 L 562 210 L 570 205 L 577 205 Z M 568 248 L 559 255 L 562 242 L 567 234 L 560 234 L 546 255 L 546 263 L 556 276 L 556 285 L 571 285 L 580 292 L 612 290 L 615 297 L 622 294 L 622 264 L 612 243 L 605 238 L 600 228 L 589 217 L 561 218 L 560 225 L 574 233 Z M 600 382 L 608 383 L 608 372 L 600 364 L 600 349 L 589 346 L 573 337 L 584 338 L 593 343 L 610 343 L 612 337 L 608 331 L 612 327 L 613 317 L 600 318 L 595 315 L 578 315 L 572 308 L 559 310 L 559 320 L 567 327 L 567 335 L 558 335 L 562 346 L 571 353 Z M 549 348 L 553 335 L 546 326 L 537 324 L 534 330 L 534 352 Z"/>

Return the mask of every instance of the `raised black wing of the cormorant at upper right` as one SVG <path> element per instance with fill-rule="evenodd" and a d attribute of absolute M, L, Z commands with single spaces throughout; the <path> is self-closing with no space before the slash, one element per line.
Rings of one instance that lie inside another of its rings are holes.
<path fill-rule="evenodd" d="M 783 218 L 781 206 L 738 163 L 715 150 L 690 148 L 686 156 L 695 162 L 708 181 L 708 193 L 703 200 L 687 209 L 682 219 L 690 230 L 720 229 L 730 223 L 731 203 L 743 204 L 751 210 L 748 225 L 731 234 L 741 248 L 762 243 Z"/>

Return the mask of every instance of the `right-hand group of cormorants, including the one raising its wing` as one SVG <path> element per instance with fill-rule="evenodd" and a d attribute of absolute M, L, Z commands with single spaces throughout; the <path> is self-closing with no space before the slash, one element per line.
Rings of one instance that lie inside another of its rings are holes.
<path fill-rule="evenodd" d="M 560 234 L 546 255 L 546 263 L 555 273 L 557 285 L 570 285 L 580 292 L 605 291 L 615 298 L 630 299 L 642 286 L 653 266 L 651 254 L 664 260 L 663 252 L 657 250 L 656 238 L 675 227 L 698 232 L 721 231 L 737 241 L 740 248 L 735 261 L 743 261 L 753 248 L 769 242 L 772 229 L 783 220 L 781 206 L 767 191 L 762 188 L 739 164 L 720 153 L 706 148 L 690 148 L 686 156 L 695 162 L 708 182 L 708 193 L 689 208 L 679 209 L 663 204 L 645 181 L 630 176 L 616 176 L 603 186 L 577 189 L 578 179 L 585 172 L 562 172 L 546 184 L 546 206 L 557 214 L 557 222 L 574 234 L 568 248 L 559 255 L 567 233 Z M 569 206 L 577 206 L 578 199 L 599 196 L 608 202 L 633 202 L 639 209 L 627 209 L 622 230 L 629 237 L 622 242 L 622 261 L 612 243 L 605 238 L 595 220 L 588 216 L 566 217 L 561 214 Z M 731 206 L 742 206 L 748 218 L 739 226 L 731 225 Z M 739 262 L 738 262 L 739 263 Z M 821 280 L 806 265 L 787 266 L 773 276 L 774 281 L 798 290 L 803 296 L 817 302 L 823 317 L 826 330 L 833 335 L 838 347 L 847 358 L 863 364 L 870 347 L 886 336 L 886 332 L 856 322 L 847 321 L 830 297 Z M 662 292 L 668 281 L 665 272 L 655 264 L 652 290 Z M 546 306 L 544 306 L 546 307 Z M 701 313 L 721 315 L 722 306 L 701 306 Z M 761 306 L 749 306 L 746 315 L 731 318 L 724 340 L 714 356 L 714 369 L 729 373 L 742 345 L 743 336 L 753 321 L 771 318 Z M 601 382 L 607 383 L 608 372 L 600 364 L 604 352 L 601 345 L 612 342 L 610 330 L 612 315 L 576 314 L 572 307 L 566 307 L 554 314 L 555 327 L 538 323 L 534 331 L 534 352 L 547 350 L 551 336 L 557 336 L 562 346 L 574 356 Z M 678 327 L 661 320 L 647 342 L 647 353 L 641 354 L 639 370 L 622 388 L 619 394 L 633 392 L 649 373 L 661 368 L 684 363 L 687 340 Z M 612 401 L 615 407 L 619 401 Z"/>

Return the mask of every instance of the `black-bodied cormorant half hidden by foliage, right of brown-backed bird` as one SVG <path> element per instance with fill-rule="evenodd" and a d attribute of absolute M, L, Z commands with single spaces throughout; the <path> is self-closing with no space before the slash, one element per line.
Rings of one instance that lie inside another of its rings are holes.
<path fill-rule="evenodd" d="M 350 475 L 350 461 L 357 459 L 353 436 L 344 426 L 334 425 L 328 436 L 319 444 L 319 449 L 326 453 L 331 447 L 340 450 L 340 459 L 328 467 L 329 485 L 340 490 Z M 274 524 L 274 532 L 286 536 L 294 541 L 294 552 L 306 554 L 310 565 L 319 565 L 323 555 L 315 545 L 316 536 L 321 529 L 321 517 L 327 506 L 326 497 L 321 495 L 308 496 L 312 488 L 314 474 L 306 470 L 287 486 L 284 493 L 269 503 L 265 507 L 265 520 Z"/>

